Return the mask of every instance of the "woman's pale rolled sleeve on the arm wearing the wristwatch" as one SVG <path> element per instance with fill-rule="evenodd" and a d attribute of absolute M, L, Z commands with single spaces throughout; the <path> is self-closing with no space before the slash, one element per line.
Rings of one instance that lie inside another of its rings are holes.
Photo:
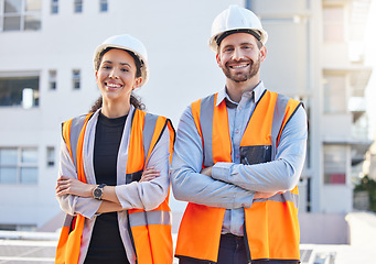
<path fill-rule="evenodd" d="M 164 129 L 159 142 L 150 154 L 147 167 L 160 172 L 160 176 L 150 180 L 116 186 L 116 195 L 123 209 L 155 209 L 166 198 L 170 189 L 169 166 L 170 131 Z"/>

